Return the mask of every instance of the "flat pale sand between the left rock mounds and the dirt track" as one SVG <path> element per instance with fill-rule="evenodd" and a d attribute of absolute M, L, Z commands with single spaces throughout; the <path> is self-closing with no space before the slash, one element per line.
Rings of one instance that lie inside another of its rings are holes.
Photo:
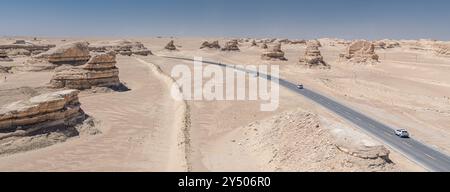
<path fill-rule="evenodd" d="M 0 158 L 0 170 L 182 171 L 185 162 L 170 161 L 176 130 L 168 86 L 134 58 L 119 57 L 118 67 L 131 91 L 80 98 L 102 134 Z"/>

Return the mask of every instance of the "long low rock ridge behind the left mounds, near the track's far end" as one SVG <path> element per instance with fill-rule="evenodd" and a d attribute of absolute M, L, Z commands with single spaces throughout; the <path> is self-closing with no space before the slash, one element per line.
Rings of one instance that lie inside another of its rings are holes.
<path fill-rule="evenodd" d="M 141 42 L 132 42 L 126 40 L 93 44 L 89 46 L 89 50 L 100 53 L 113 51 L 116 54 L 125 56 L 131 56 L 133 54 L 141 56 L 153 55 L 153 53 L 149 49 L 147 49 Z"/>

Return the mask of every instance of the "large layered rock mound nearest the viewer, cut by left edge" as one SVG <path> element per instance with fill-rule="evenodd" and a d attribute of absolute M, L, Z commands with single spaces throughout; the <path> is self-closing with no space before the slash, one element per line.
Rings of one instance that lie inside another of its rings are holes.
<path fill-rule="evenodd" d="M 95 122 L 80 107 L 77 90 L 46 93 L 0 109 L 0 155 L 29 151 L 95 135 Z"/>

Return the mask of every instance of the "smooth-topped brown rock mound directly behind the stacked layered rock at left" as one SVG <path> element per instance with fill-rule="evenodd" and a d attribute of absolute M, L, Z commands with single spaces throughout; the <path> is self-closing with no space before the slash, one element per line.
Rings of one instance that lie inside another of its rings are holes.
<path fill-rule="evenodd" d="M 47 59 L 48 62 L 58 65 L 82 65 L 91 58 L 88 46 L 88 42 L 69 43 L 37 55 L 36 58 Z"/>

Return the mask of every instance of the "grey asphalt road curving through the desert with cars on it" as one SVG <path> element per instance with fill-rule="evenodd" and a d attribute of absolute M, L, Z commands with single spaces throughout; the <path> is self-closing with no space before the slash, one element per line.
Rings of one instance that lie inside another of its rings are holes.
<path fill-rule="evenodd" d="M 166 57 L 171 59 L 188 60 L 187 58 L 177 58 L 177 57 Z M 233 65 L 222 64 L 210 61 L 203 61 L 206 64 L 218 65 L 221 67 L 229 67 Z M 234 67 L 233 67 L 234 68 Z M 255 71 L 250 71 L 242 68 L 234 68 L 235 70 L 245 71 L 247 73 L 256 74 Z M 278 80 L 280 86 L 285 87 L 293 92 L 296 92 L 304 97 L 314 101 L 315 103 L 327 108 L 333 113 L 341 116 L 342 118 L 350 121 L 351 123 L 357 125 L 365 132 L 376 137 L 378 140 L 384 142 L 386 145 L 390 146 L 399 153 L 405 155 L 408 159 L 416 162 L 417 164 L 423 166 L 429 171 L 435 172 L 450 172 L 450 157 L 438 150 L 429 147 L 415 139 L 412 138 L 400 138 L 395 135 L 394 130 L 400 128 L 394 128 L 383 124 L 377 120 L 374 120 L 350 107 L 344 106 L 339 102 L 336 102 L 324 95 L 321 95 L 313 90 L 304 88 L 298 89 L 297 83 L 292 83 L 281 78 L 273 78 L 267 76 L 266 74 L 259 74 L 260 78 L 266 78 L 268 80 Z"/>

